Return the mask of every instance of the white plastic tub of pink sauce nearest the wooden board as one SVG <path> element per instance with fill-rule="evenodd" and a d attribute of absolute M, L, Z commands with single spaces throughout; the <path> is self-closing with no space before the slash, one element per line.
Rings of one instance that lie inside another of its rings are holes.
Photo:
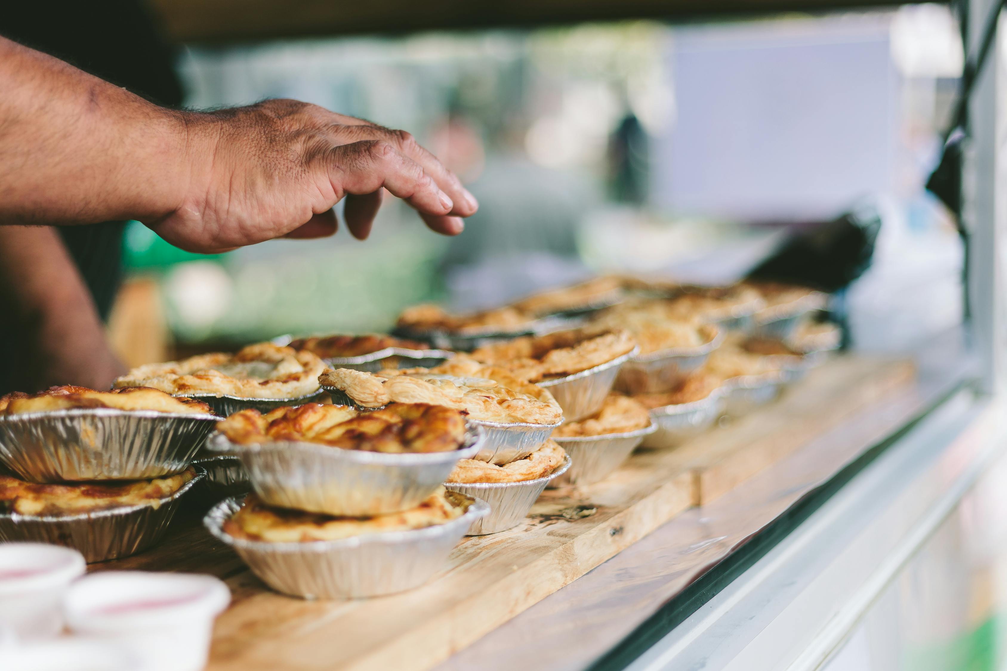
<path fill-rule="evenodd" d="M 75 634 L 124 646 L 144 671 L 198 671 L 229 603 L 228 586 L 211 575 L 107 571 L 75 582 L 64 612 Z"/>

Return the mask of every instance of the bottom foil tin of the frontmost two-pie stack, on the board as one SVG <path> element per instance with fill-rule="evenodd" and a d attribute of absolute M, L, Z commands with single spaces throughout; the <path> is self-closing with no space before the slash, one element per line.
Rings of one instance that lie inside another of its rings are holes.
<path fill-rule="evenodd" d="M 338 540 L 270 543 L 235 538 L 224 524 L 238 512 L 240 498 L 213 506 L 203 524 L 277 592 L 302 599 L 366 599 L 412 590 L 429 580 L 443 568 L 469 526 L 489 512 L 482 501 L 457 493 L 448 496 L 466 510 L 444 524 Z"/>

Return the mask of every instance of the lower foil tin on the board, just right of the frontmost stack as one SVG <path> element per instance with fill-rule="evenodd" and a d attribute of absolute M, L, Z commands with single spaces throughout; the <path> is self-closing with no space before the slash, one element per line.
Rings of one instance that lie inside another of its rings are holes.
<path fill-rule="evenodd" d="M 445 482 L 448 490 L 459 492 L 489 506 L 489 514 L 472 523 L 469 536 L 484 536 L 487 533 L 507 531 L 521 524 L 543 490 L 554 479 L 561 477 L 570 468 L 570 455 L 552 473 L 535 480 L 524 482 Z"/>

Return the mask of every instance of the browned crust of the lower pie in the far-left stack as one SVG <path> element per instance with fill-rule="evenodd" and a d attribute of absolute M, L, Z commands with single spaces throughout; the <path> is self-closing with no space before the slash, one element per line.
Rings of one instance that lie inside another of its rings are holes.
<path fill-rule="evenodd" d="M 19 515 L 77 515 L 81 513 L 146 505 L 158 508 L 195 477 L 189 468 L 178 475 L 131 482 L 39 485 L 0 475 L 0 509 Z"/>

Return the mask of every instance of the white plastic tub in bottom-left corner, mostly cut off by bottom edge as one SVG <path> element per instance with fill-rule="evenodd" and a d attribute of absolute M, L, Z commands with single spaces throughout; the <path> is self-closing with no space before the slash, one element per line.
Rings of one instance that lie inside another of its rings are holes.
<path fill-rule="evenodd" d="M 127 650 L 105 641 L 59 638 L 3 648 L 0 668 L 13 671 L 142 671 Z"/>

